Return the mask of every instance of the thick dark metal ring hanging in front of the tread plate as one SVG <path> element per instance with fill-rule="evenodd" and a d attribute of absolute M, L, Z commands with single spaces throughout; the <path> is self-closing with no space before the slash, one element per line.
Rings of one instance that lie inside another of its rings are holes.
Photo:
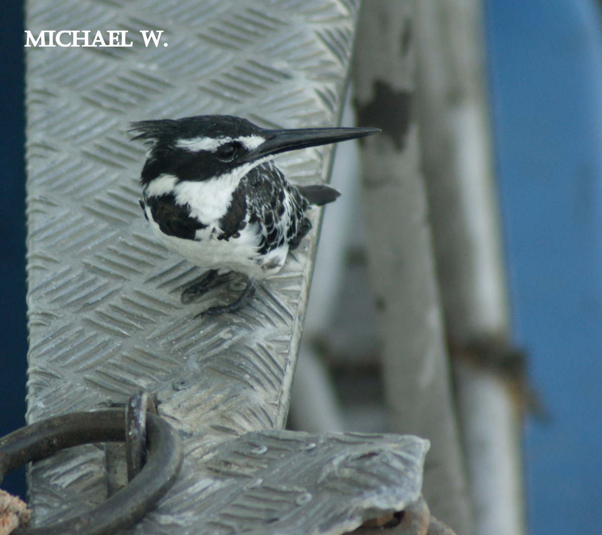
<path fill-rule="evenodd" d="M 182 442 L 159 416 L 148 414 L 148 454 L 131 483 L 99 507 L 48 526 L 20 528 L 13 535 L 108 535 L 134 524 L 165 495 L 182 466 Z M 4 474 L 63 448 L 92 442 L 123 442 L 125 410 L 72 413 L 26 425 L 0 439 L 0 481 Z"/>

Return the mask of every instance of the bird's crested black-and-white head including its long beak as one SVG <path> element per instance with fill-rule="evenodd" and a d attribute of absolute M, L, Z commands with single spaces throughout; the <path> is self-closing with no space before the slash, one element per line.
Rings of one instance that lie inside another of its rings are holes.
<path fill-rule="evenodd" d="M 151 143 L 140 181 L 162 174 L 202 181 L 279 152 L 334 143 L 379 132 L 377 128 L 267 130 L 230 115 L 143 120 L 132 124 L 133 139 Z"/>

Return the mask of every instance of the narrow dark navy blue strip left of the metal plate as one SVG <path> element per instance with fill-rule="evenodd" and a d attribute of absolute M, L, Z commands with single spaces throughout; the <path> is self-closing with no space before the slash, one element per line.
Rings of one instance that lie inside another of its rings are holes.
<path fill-rule="evenodd" d="M 25 120 L 23 14 L 7 2 L 0 16 L 0 436 L 25 425 Z M 2 488 L 25 496 L 25 471 L 11 472 Z"/>

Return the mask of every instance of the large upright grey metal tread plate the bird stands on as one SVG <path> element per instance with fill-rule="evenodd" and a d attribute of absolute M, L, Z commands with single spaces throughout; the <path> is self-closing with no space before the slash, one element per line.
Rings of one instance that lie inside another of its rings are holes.
<path fill-rule="evenodd" d="M 232 299 L 241 281 L 196 304 L 180 303 L 182 288 L 202 270 L 166 251 L 147 228 L 137 183 L 144 149 L 129 141 L 128 123 L 225 113 L 265 127 L 337 124 L 358 3 L 26 3 L 26 28 L 34 35 L 128 30 L 134 42 L 130 48 L 25 49 L 28 420 L 125 402 L 140 388 L 157 393 L 161 415 L 184 436 L 187 457 L 161 513 L 137 528 L 144 533 L 200 533 L 208 489 L 231 484 L 207 475 L 208 452 L 250 431 L 283 427 L 315 234 L 261 284 L 249 307 L 194 319 L 217 300 Z M 160 46 L 146 48 L 139 30 L 164 30 Z M 292 181 L 316 183 L 327 178 L 330 152 L 306 149 L 279 163 Z M 317 228 L 319 212 L 312 218 Z M 393 448 L 396 440 L 383 444 Z M 37 522 L 105 499 L 114 481 L 104 468 L 113 457 L 88 445 L 37 463 L 29 474 Z M 402 475 L 394 467 L 391 474 Z M 356 483 L 356 492 L 367 484 L 362 477 Z M 391 478 L 383 484 L 390 490 Z M 364 511 L 382 503 L 367 500 Z M 271 533 L 268 520 L 256 519 L 264 525 L 258 533 Z M 341 533 L 347 520 L 340 515 L 328 533 Z M 315 521 L 305 516 L 308 533 Z"/>

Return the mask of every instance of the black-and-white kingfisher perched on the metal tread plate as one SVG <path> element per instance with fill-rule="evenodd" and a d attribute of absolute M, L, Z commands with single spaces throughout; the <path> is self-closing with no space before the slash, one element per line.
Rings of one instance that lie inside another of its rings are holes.
<path fill-rule="evenodd" d="M 257 281 L 278 273 L 288 251 L 311 230 L 305 211 L 340 195 L 325 184 L 294 186 L 275 155 L 379 131 L 268 129 L 230 115 L 132 122 L 132 140 L 148 145 L 140 207 L 152 232 L 170 251 L 208 269 L 181 301 L 196 300 L 238 272 L 248 281 L 236 301 L 197 316 L 240 310 L 253 298 Z"/>

